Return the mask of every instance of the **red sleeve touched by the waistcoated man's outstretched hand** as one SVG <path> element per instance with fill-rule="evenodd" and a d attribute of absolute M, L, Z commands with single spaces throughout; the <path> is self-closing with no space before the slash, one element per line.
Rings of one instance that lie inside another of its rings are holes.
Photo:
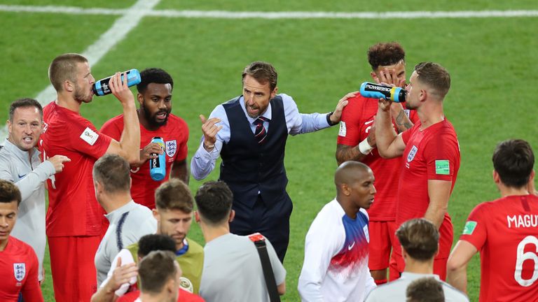
<path fill-rule="evenodd" d="M 340 130 L 338 131 L 338 145 L 356 146 L 361 136 L 361 102 L 357 96 L 349 99 L 349 103 L 342 111 Z"/>

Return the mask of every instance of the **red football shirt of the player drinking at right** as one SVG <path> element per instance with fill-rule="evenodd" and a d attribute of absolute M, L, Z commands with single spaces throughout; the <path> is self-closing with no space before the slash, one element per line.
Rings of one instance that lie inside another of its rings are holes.
<path fill-rule="evenodd" d="M 460 145 L 452 124 L 445 119 L 424 130 L 420 129 L 421 126 L 418 121 L 413 128 L 401 134 L 406 149 L 398 185 L 398 225 L 412 218 L 424 217 L 429 206 L 428 180 L 450 181 L 452 192 L 460 169 Z M 448 213 L 445 213 L 439 233 L 436 259 L 448 258 L 454 237 Z M 401 254 L 398 249 L 395 252 Z"/>

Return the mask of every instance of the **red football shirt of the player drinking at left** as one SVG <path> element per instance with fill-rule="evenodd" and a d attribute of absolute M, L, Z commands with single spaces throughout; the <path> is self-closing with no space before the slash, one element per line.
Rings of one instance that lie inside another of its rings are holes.
<path fill-rule="evenodd" d="M 47 236 L 98 236 L 104 210 L 95 199 L 92 168 L 111 138 L 67 108 L 52 102 L 43 108 L 45 129 L 39 148 L 43 159 L 57 154 L 71 161 L 48 182 Z"/>

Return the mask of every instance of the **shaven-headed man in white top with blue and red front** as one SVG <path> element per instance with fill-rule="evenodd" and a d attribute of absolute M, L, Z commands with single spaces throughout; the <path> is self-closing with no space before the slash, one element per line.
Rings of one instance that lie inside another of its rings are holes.
<path fill-rule="evenodd" d="M 364 301 L 375 288 L 368 271 L 368 214 L 375 187 L 373 172 L 345 161 L 334 175 L 336 199 L 312 222 L 298 290 L 302 301 Z"/>

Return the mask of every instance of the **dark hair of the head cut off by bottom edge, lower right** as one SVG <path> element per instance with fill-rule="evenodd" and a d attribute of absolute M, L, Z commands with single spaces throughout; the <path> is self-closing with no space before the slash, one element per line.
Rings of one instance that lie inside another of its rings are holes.
<path fill-rule="evenodd" d="M 406 289 L 406 302 L 444 302 L 443 285 L 435 278 L 420 278 L 411 282 Z"/>

